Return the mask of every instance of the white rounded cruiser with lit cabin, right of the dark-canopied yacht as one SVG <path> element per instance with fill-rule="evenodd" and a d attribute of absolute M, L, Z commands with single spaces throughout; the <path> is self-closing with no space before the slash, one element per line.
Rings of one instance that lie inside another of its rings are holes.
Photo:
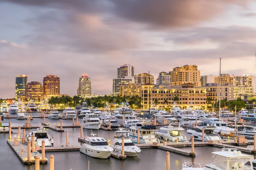
<path fill-rule="evenodd" d="M 184 129 L 180 127 L 174 127 L 171 124 L 168 126 L 163 126 L 161 127 L 157 132 L 157 138 L 162 139 L 166 141 L 167 143 L 169 142 L 188 142 L 188 139 L 186 138 L 185 135 L 182 135 L 180 132 L 183 131 Z"/>

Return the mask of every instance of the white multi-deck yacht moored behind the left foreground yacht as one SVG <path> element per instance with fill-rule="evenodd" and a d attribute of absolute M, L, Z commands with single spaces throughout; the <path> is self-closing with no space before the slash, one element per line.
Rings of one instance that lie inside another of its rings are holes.
<path fill-rule="evenodd" d="M 84 129 L 96 129 L 99 130 L 102 123 L 99 121 L 99 116 L 96 114 L 87 114 L 86 117 L 82 119 L 82 125 Z"/>

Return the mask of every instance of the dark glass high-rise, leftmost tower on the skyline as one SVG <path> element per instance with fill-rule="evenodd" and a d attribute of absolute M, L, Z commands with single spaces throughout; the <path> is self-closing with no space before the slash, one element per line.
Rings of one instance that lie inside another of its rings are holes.
<path fill-rule="evenodd" d="M 15 99 L 18 100 L 25 96 L 25 88 L 28 83 L 28 77 L 26 75 L 18 75 L 15 79 Z"/>

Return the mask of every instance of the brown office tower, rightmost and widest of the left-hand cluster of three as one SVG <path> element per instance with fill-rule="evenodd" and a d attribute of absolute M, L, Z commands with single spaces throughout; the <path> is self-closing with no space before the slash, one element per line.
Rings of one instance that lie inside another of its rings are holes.
<path fill-rule="evenodd" d="M 44 77 L 43 86 L 45 99 L 60 95 L 60 78 L 58 76 L 47 75 Z"/>

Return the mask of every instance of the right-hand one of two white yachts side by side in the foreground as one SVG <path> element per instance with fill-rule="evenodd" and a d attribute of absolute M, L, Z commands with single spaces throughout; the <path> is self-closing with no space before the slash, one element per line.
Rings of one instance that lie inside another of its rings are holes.
<path fill-rule="evenodd" d="M 124 131 L 122 129 L 119 129 L 115 132 L 113 142 L 112 144 L 113 150 L 117 153 L 122 152 L 122 138 L 124 138 L 124 145 L 125 145 L 125 155 L 130 157 L 137 156 L 138 153 L 140 153 L 140 148 L 135 146 L 135 144 L 131 141 L 129 136 L 129 131 Z"/>

